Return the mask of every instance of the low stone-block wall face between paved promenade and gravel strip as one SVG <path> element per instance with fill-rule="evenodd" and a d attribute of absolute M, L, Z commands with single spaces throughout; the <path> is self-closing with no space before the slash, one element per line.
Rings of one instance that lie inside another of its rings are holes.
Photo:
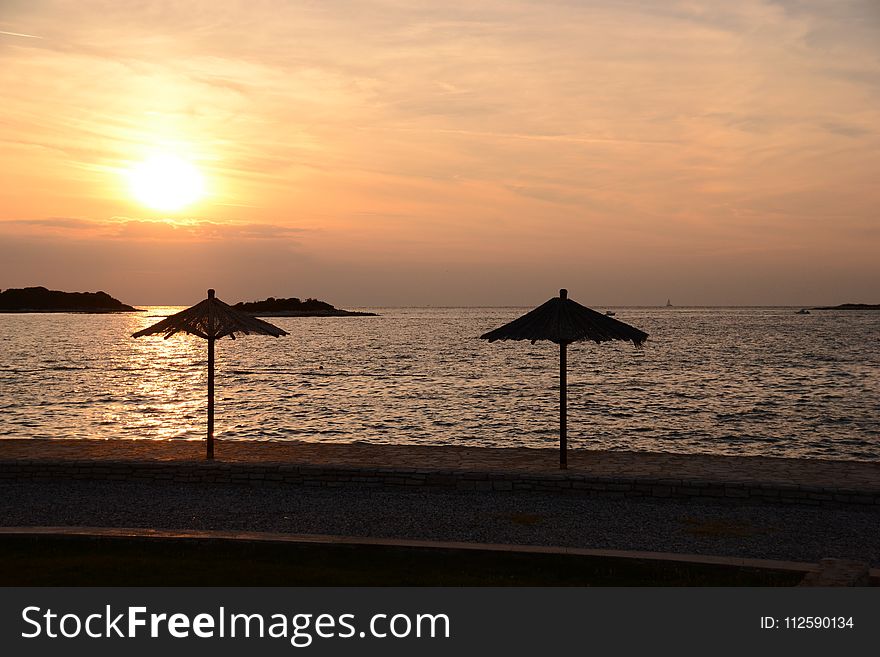
<path fill-rule="evenodd" d="M 607 477 L 582 473 L 528 473 L 430 468 L 71 459 L 0 461 L 3 479 L 88 479 L 224 483 L 250 486 L 298 485 L 338 488 L 434 488 L 466 491 L 535 491 L 603 497 L 652 497 L 809 506 L 880 506 L 880 489 L 806 486 L 759 481 L 709 481 Z"/>

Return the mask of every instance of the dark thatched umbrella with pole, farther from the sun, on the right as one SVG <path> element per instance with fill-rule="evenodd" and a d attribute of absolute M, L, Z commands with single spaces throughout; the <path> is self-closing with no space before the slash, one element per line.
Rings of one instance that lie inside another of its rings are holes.
<path fill-rule="evenodd" d="M 566 458 L 566 362 L 565 350 L 571 342 L 592 340 L 631 341 L 637 347 L 648 337 L 644 331 L 597 313 L 568 298 L 568 290 L 509 324 L 480 336 L 483 340 L 550 340 L 559 345 L 559 467 L 567 467 Z"/>

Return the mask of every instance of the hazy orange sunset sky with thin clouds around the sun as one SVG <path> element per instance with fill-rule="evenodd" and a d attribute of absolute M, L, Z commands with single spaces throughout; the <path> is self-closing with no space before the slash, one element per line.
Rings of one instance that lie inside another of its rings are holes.
<path fill-rule="evenodd" d="M 880 302 L 875 0 L 2 0 L 0 88 L 2 288 Z"/>

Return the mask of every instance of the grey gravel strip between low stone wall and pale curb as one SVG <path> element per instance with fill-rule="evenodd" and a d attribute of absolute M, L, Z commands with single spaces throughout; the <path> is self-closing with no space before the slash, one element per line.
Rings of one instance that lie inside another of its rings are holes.
<path fill-rule="evenodd" d="M 880 567 L 880 510 L 535 493 L 0 482 L 0 525 L 217 529 L 695 553 Z"/>

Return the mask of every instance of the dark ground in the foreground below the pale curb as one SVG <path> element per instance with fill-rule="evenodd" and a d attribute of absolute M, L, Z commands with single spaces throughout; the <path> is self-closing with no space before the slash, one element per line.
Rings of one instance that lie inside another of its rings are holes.
<path fill-rule="evenodd" d="M 3 586 L 796 586 L 803 572 L 567 554 L 0 535 Z"/>

